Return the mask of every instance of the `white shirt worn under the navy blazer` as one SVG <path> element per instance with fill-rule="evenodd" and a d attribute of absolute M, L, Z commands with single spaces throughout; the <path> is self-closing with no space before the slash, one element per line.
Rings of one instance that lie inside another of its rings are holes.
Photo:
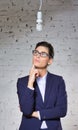
<path fill-rule="evenodd" d="M 38 84 L 39 90 L 41 92 L 43 102 L 44 102 L 44 98 L 45 98 L 46 77 L 47 77 L 47 73 L 43 77 L 37 78 L 37 84 Z M 40 114 L 39 114 L 39 116 L 40 116 Z M 45 129 L 45 128 L 47 128 L 47 124 L 46 124 L 46 121 L 43 121 L 41 124 L 41 129 Z"/>

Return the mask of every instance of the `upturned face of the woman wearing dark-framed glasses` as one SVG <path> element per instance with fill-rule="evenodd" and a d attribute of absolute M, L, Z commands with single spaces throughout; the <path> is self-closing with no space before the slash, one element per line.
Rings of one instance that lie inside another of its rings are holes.
<path fill-rule="evenodd" d="M 39 46 L 33 53 L 33 64 L 36 68 L 47 68 L 48 64 L 52 63 L 52 58 L 49 57 L 49 50 L 47 47 Z"/>

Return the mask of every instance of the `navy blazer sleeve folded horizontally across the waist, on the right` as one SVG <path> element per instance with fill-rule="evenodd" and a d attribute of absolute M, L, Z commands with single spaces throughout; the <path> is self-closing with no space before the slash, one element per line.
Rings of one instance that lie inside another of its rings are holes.
<path fill-rule="evenodd" d="M 64 117 L 67 113 L 67 93 L 65 82 L 60 78 L 58 85 L 57 101 L 54 107 L 40 110 L 42 120 L 57 119 Z"/>

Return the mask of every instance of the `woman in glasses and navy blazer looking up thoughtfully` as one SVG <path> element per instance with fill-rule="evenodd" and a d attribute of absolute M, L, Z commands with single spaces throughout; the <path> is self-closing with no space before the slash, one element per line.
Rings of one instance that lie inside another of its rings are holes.
<path fill-rule="evenodd" d="M 48 72 L 54 58 L 53 46 L 45 41 L 32 51 L 29 75 L 18 79 L 17 93 L 23 113 L 19 130 L 62 130 L 67 94 L 61 76 Z"/>

